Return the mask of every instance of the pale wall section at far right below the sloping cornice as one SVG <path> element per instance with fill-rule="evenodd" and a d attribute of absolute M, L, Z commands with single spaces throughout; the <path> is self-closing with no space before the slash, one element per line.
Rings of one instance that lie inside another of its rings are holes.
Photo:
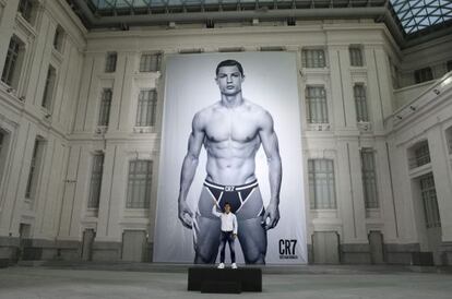
<path fill-rule="evenodd" d="M 406 226 L 414 227 L 409 239 L 420 241 L 427 248 L 424 213 L 420 196 L 413 187 L 418 177 L 432 172 L 435 178 L 439 212 L 441 217 L 442 241 L 451 240 L 450 194 L 452 192 L 451 154 L 448 148 L 445 130 L 452 125 L 452 74 L 431 84 L 423 94 L 394 111 L 388 119 L 391 140 L 394 146 L 395 192 L 400 208 L 409 208 L 404 219 Z M 417 142 L 427 140 L 431 162 L 415 169 L 408 169 L 407 152 Z M 417 207 L 416 207 L 417 206 Z M 403 220 L 403 219 L 401 219 Z M 405 225 L 401 228 L 405 229 Z"/>

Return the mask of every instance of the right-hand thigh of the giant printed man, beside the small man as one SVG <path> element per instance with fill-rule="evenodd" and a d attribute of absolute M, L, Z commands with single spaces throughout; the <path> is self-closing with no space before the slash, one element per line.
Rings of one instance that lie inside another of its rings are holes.
<path fill-rule="evenodd" d="M 238 220 L 238 238 L 247 264 L 265 264 L 266 230 L 262 218 Z"/>

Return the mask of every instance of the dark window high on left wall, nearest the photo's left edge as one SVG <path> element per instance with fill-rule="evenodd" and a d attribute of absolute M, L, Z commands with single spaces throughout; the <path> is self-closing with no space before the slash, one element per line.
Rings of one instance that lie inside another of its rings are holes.
<path fill-rule="evenodd" d="M 1 81 L 14 88 L 17 88 L 24 52 L 25 45 L 16 36 L 11 37 Z"/>

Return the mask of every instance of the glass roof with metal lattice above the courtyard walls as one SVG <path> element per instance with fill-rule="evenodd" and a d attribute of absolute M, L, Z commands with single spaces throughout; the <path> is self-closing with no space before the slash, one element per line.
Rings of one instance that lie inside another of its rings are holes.
<path fill-rule="evenodd" d="M 385 0 L 83 0 L 99 16 L 133 15 L 157 12 L 164 13 L 243 9 L 331 9 L 383 7 Z M 405 34 L 417 33 L 433 25 L 452 20 L 452 0 L 390 0 Z M 229 7 L 229 8 L 227 8 Z M 177 9 L 181 9 L 177 10 Z"/>

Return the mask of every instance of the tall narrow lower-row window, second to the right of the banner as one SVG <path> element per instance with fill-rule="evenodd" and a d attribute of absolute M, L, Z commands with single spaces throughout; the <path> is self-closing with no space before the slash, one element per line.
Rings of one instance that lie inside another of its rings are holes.
<path fill-rule="evenodd" d="M 372 148 L 361 150 L 362 190 L 366 208 L 378 208 L 376 160 Z"/>

